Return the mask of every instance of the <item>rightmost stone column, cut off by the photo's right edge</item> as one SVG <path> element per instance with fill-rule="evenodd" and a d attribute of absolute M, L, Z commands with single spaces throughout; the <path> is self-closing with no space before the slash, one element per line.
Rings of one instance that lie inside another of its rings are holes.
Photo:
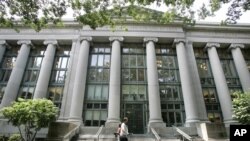
<path fill-rule="evenodd" d="M 243 91 L 250 92 L 250 74 L 247 69 L 246 61 L 242 55 L 241 48 L 244 48 L 243 44 L 231 44 L 229 47 L 232 52 L 234 64 L 236 66 Z"/>

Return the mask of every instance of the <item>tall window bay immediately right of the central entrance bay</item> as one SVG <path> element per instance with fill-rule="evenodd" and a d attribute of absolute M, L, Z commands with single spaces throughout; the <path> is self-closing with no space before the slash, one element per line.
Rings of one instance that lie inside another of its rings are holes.
<path fill-rule="evenodd" d="M 163 121 L 166 126 L 182 126 L 185 115 L 176 52 L 158 44 L 156 57 Z"/>

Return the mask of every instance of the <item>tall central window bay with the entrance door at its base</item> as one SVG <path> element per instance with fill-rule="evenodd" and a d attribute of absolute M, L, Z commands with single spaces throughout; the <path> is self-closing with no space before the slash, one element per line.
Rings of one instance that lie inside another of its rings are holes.
<path fill-rule="evenodd" d="M 128 117 L 129 130 L 141 134 L 148 121 L 146 49 L 128 43 L 122 48 L 121 117 Z"/>

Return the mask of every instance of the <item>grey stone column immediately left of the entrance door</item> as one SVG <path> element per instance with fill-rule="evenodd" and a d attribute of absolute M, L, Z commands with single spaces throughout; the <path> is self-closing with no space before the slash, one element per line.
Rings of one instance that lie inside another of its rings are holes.
<path fill-rule="evenodd" d="M 117 127 L 120 123 L 120 95 L 121 95 L 121 43 L 123 37 L 110 37 L 112 42 L 112 56 L 109 80 L 109 104 L 107 126 Z"/>

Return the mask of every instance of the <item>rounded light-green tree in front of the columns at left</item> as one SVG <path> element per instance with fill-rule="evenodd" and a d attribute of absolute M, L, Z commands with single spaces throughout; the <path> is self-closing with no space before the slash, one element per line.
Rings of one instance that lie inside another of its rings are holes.
<path fill-rule="evenodd" d="M 41 128 L 56 120 L 58 108 L 47 99 L 21 99 L 1 109 L 5 118 L 18 127 L 22 140 L 33 141 Z"/>

